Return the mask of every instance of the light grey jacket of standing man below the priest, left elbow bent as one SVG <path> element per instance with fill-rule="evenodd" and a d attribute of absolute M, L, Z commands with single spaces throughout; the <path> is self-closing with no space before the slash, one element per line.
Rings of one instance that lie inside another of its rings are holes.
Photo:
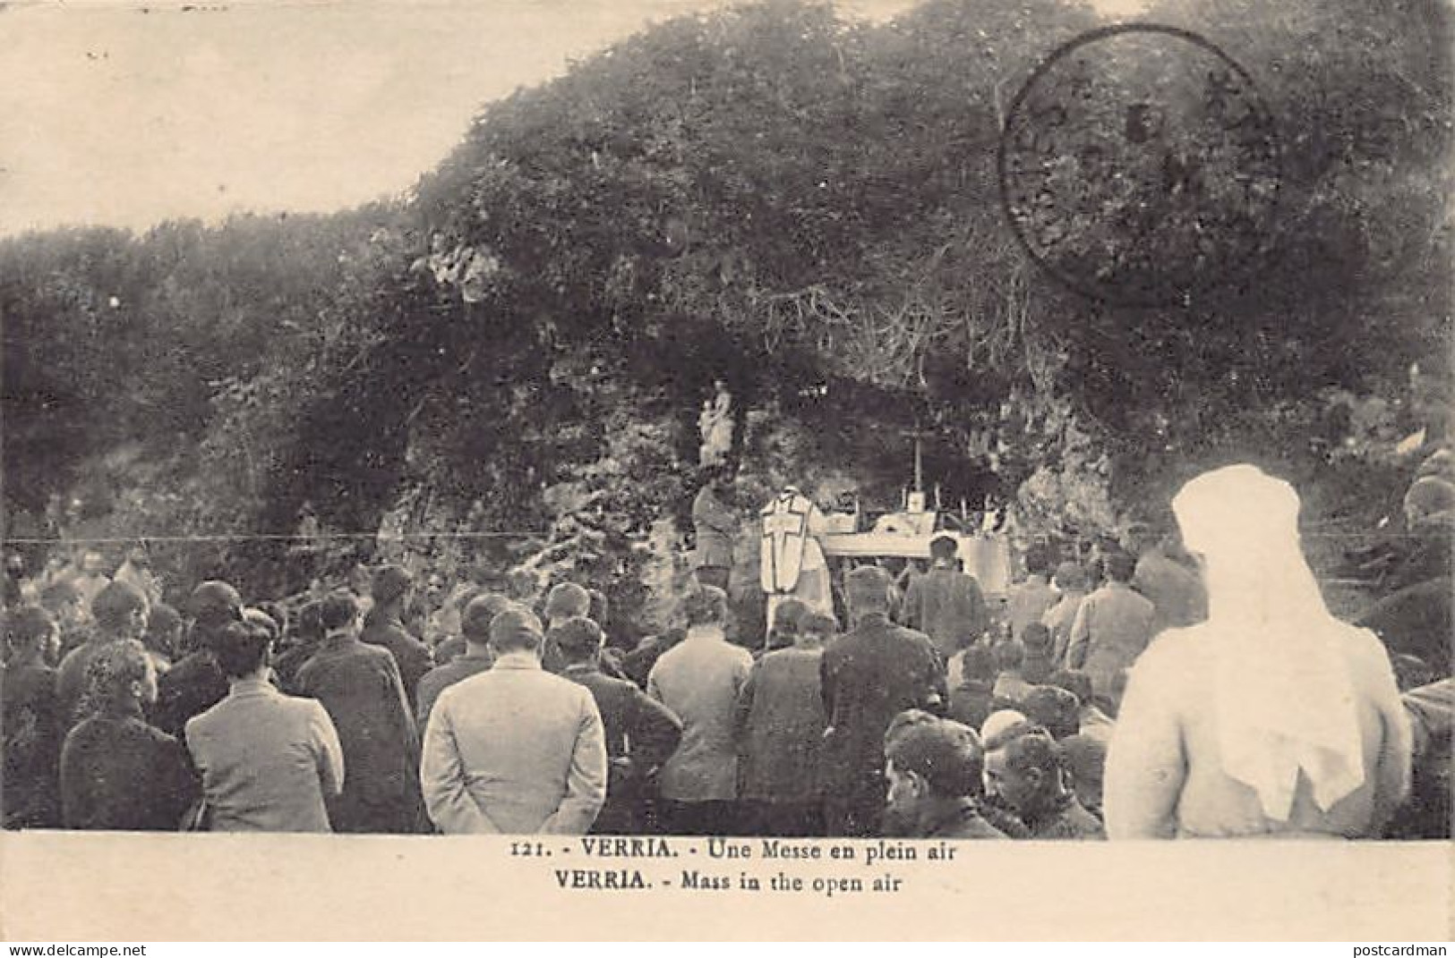
<path fill-rule="evenodd" d="M 691 631 L 656 660 L 647 695 L 682 720 L 682 738 L 658 779 L 663 798 L 736 798 L 738 693 L 751 670 L 748 650 L 728 643 L 720 631 Z"/>

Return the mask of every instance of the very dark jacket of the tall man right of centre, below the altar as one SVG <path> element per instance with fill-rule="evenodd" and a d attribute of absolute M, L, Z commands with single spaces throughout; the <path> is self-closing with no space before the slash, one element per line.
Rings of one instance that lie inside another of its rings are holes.
<path fill-rule="evenodd" d="M 821 753 L 825 792 L 882 791 L 889 721 L 944 699 L 934 647 L 924 634 L 870 613 L 824 650 L 819 680 L 829 718 Z"/>

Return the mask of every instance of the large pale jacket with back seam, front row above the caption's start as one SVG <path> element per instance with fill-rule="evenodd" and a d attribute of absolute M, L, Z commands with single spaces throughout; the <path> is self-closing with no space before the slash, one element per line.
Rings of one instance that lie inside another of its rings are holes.
<path fill-rule="evenodd" d="M 439 693 L 419 781 L 448 834 L 585 834 L 607 800 L 597 702 L 534 656 L 505 654 Z"/>

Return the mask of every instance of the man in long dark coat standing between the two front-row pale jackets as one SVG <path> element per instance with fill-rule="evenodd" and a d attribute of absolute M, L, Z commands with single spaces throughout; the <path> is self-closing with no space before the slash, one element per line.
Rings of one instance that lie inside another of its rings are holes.
<path fill-rule="evenodd" d="M 409 833 L 423 823 L 419 736 L 394 656 L 358 638 L 358 602 L 335 592 L 319 609 L 324 640 L 298 670 L 343 746 L 343 791 L 329 802 L 335 832 Z"/>

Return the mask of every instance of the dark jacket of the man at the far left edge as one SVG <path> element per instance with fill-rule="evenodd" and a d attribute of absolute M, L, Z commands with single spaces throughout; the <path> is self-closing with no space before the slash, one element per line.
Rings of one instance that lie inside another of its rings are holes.
<path fill-rule="evenodd" d="M 60 760 L 64 725 L 55 707 L 55 669 L 12 666 L 0 677 L 4 770 L 0 807 L 7 829 L 61 824 Z"/>

